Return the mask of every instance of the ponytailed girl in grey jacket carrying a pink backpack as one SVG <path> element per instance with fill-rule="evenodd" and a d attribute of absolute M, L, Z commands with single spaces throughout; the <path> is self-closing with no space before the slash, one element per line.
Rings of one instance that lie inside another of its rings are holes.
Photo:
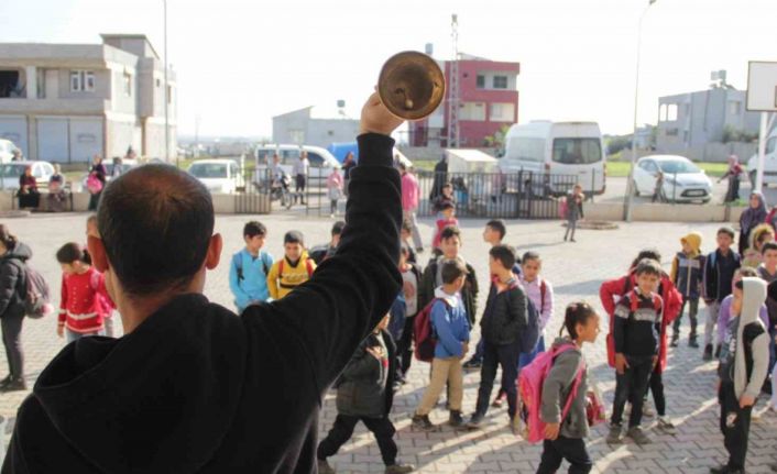
<path fill-rule="evenodd" d="M 569 335 L 562 338 L 565 329 Z M 586 302 L 569 305 L 551 354 L 544 357 L 551 367 L 541 385 L 539 418 L 546 425 L 537 474 L 557 472 L 563 460 L 569 462 L 570 473 L 586 474 L 593 466 L 583 441 L 589 434 L 586 409 L 589 397 L 582 346 L 586 342 L 594 343 L 598 335 L 599 315 L 593 308 Z"/>

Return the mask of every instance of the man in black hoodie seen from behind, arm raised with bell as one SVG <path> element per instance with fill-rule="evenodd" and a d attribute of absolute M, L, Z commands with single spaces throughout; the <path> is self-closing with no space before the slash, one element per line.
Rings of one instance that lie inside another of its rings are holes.
<path fill-rule="evenodd" d="M 241 318 L 203 295 L 210 195 L 173 167 L 112 181 L 89 249 L 125 335 L 67 345 L 19 409 L 2 473 L 313 473 L 325 392 L 401 288 L 401 124 L 373 95 L 336 256 Z"/>

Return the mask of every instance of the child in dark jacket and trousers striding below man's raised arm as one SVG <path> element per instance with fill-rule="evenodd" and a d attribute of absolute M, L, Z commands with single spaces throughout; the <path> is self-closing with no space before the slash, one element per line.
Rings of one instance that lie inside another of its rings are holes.
<path fill-rule="evenodd" d="M 396 374 L 396 348 L 386 331 L 390 317 L 381 320 L 372 334 L 359 345 L 348 366 L 337 382 L 337 418 L 329 434 L 318 444 L 319 474 L 335 474 L 327 462 L 353 434 L 361 421 L 377 440 L 377 448 L 385 464 L 386 474 L 403 474 L 414 471 L 412 465 L 396 461 L 394 423 L 388 414 L 394 404 L 394 375 Z"/>

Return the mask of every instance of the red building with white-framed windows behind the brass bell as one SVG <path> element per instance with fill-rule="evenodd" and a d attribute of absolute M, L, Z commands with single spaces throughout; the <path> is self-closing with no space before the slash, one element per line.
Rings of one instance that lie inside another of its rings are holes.
<path fill-rule="evenodd" d="M 429 118 L 412 122 L 413 146 L 448 146 L 451 62 L 442 62 L 447 80 L 446 100 Z M 502 63 L 462 54 L 459 59 L 459 147 L 485 144 L 502 125 L 518 121 L 516 79 L 519 63 Z"/>

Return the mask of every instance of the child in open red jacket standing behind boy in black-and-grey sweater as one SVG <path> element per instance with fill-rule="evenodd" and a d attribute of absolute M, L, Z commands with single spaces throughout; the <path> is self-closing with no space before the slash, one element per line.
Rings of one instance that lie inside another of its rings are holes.
<path fill-rule="evenodd" d="M 608 361 L 610 366 L 615 366 L 615 352 L 613 345 L 613 315 L 615 312 L 615 304 L 620 300 L 623 295 L 631 291 L 636 286 L 636 277 L 634 271 L 636 264 L 643 258 L 655 260 L 660 262 L 661 255 L 657 250 L 648 249 L 639 252 L 637 257 L 632 263 L 632 267 L 628 274 L 622 276 L 617 279 L 612 279 L 605 282 L 599 289 L 599 296 L 602 300 L 602 306 L 604 310 L 610 315 L 610 334 L 608 334 Z M 658 349 L 658 363 L 656 364 L 653 374 L 650 374 L 650 393 L 653 394 L 653 400 L 656 404 L 656 411 L 658 411 L 658 428 L 666 432 L 667 434 L 674 434 L 676 432 L 675 426 L 671 420 L 666 416 L 666 397 L 664 395 L 664 377 L 663 373 L 666 370 L 667 361 L 667 327 L 671 324 L 680 312 L 682 307 L 682 295 L 677 290 L 671 278 L 666 273 L 661 274 L 658 283 L 658 289 L 656 291 L 664 301 L 664 311 L 661 317 L 660 334 L 659 334 L 659 349 Z M 645 394 L 647 396 L 647 394 Z M 643 404 L 643 412 L 645 416 L 653 416 L 647 404 Z"/>

